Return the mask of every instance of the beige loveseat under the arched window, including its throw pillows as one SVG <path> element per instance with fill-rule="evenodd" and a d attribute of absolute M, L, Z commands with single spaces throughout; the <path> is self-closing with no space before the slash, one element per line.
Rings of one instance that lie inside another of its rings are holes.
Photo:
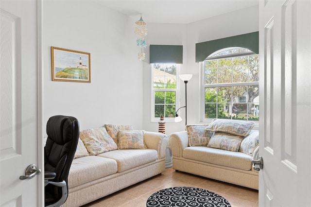
<path fill-rule="evenodd" d="M 207 131 L 206 127 L 208 125 L 187 125 L 187 131 L 170 135 L 173 169 L 258 190 L 258 172 L 252 169 L 252 160 L 258 159 L 259 153 L 258 130 L 249 127 L 249 134 L 244 133 L 238 149 L 233 149 L 228 147 L 226 136 L 232 137 L 227 132 L 234 127 L 225 132 L 217 131 L 217 127 Z M 213 138 L 218 141 L 211 143 Z"/>

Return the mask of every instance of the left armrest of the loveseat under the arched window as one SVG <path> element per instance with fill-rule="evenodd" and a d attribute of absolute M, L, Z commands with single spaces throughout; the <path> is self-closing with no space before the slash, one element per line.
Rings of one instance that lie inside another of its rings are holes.
<path fill-rule="evenodd" d="M 169 137 L 169 145 L 172 149 L 172 155 L 177 157 L 183 156 L 183 150 L 188 147 L 187 131 L 175 132 Z"/>

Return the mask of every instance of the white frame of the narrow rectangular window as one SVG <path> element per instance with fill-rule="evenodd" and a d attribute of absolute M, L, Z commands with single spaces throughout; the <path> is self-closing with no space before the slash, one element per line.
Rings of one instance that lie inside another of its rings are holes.
<path fill-rule="evenodd" d="M 176 64 L 176 63 L 158 63 L 158 64 L 166 64 L 166 65 L 177 65 L 176 67 L 176 88 L 154 88 L 154 72 L 152 70 L 151 72 L 151 122 L 158 122 L 160 120 L 159 117 L 155 117 L 155 91 L 166 91 L 170 92 L 173 91 L 175 92 L 175 112 L 180 106 L 180 99 L 179 99 L 179 89 L 180 89 L 180 68 L 181 64 Z M 151 64 L 151 69 L 153 69 L 153 64 Z M 164 115 L 163 115 L 164 116 Z M 174 122 L 175 117 L 164 117 L 165 122 Z"/>

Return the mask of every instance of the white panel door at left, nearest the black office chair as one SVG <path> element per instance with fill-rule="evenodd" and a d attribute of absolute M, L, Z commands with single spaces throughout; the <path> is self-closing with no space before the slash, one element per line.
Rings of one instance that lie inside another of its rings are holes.
<path fill-rule="evenodd" d="M 19 179 L 42 167 L 37 1 L 1 0 L 0 15 L 0 206 L 39 207 L 42 174 Z"/>

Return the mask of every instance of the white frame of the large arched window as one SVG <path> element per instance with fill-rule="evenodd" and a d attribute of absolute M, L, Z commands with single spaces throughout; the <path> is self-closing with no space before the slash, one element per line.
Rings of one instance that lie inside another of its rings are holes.
<path fill-rule="evenodd" d="M 224 48 L 222 50 L 213 52 L 209 57 L 207 57 L 204 61 L 199 63 L 200 67 L 200 120 L 203 123 L 210 123 L 213 119 L 215 118 L 205 118 L 205 61 L 206 60 L 213 60 L 213 59 L 221 59 L 221 58 L 228 58 L 228 57 L 236 57 L 236 56 L 246 56 L 246 55 L 252 55 L 255 54 L 254 52 L 243 52 L 239 54 L 231 54 L 231 55 L 222 55 L 222 56 L 213 56 L 216 53 L 223 52 L 226 50 L 230 50 L 234 48 Z M 222 84 L 208 84 L 208 86 L 211 87 L 221 87 L 221 86 L 259 86 L 259 81 L 256 82 L 245 82 L 245 83 L 222 83 Z M 247 103 L 247 98 L 246 98 L 246 103 Z M 254 121 L 256 126 L 259 126 L 259 121 Z"/>

